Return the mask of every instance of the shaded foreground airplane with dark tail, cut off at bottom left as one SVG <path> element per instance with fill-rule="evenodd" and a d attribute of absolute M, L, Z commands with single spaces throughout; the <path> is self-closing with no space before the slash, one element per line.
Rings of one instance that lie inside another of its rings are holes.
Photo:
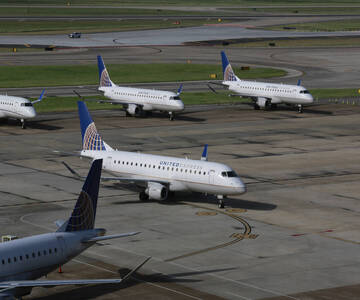
<path fill-rule="evenodd" d="M 56 232 L 0 243 L 0 299 L 21 298 L 30 294 L 33 287 L 120 283 L 150 259 L 122 279 L 36 280 L 99 241 L 138 233 L 105 235 L 105 229 L 94 228 L 101 168 L 102 160 L 95 160 L 71 217 L 57 221 Z"/>

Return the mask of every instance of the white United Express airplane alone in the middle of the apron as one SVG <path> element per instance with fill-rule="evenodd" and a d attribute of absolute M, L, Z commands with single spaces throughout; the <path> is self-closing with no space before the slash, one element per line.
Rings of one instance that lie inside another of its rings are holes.
<path fill-rule="evenodd" d="M 201 160 L 114 150 L 98 134 L 86 104 L 78 101 L 78 109 L 82 134 L 80 155 L 103 159 L 103 168 L 120 177 L 102 179 L 135 184 L 141 191 L 140 200 L 161 201 L 167 199 L 169 192 L 192 191 L 216 195 L 219 207 L 223 208 L 224 196 L 246 191 L 245 184 L 229 166 L 207 161 L 207 145 Z"/>

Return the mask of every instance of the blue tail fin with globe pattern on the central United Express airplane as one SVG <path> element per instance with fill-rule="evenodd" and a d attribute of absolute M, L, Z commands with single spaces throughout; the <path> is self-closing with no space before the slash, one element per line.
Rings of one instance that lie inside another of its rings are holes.
<path fill-rule="evenodd" d="M 83 101 L 78 101 L 78 112 L 83 150 L 105 151 L 105 143 L 98 134 L 95 123 L 91 119 L 86 104 Z"/>

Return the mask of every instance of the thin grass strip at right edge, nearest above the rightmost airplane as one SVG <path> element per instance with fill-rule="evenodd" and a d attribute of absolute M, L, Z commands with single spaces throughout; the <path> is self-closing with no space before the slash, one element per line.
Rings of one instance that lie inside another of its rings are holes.
<path fill-rule="evenodd" d="M 275 46 L 269 46 L 275 43 Z M 288 38 L 239 42 L 229 47 L 353 47 L 360 46 L 360 37 Z M 221 46 L 223 47 L 223 46 Z"/>

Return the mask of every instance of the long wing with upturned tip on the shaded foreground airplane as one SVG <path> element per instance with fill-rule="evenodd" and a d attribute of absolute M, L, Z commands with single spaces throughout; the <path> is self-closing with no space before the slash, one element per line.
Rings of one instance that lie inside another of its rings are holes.
<path fill-rule="evenodd" d="M 77 280 L 20 280 L 20 281 L 4 281 L 0 283 L 0 293 L 10 291 L 15 288 L 25 287 L 51 287 L 60 285 L 88 285 L 88 284 L 109 284 L 121 283 L 129 279 L 132 274 L 139 270 L 151 257 L 148 257 L 136 268 L 127 273 L 123 278 L 117 279 L 77 279 Z"/>

